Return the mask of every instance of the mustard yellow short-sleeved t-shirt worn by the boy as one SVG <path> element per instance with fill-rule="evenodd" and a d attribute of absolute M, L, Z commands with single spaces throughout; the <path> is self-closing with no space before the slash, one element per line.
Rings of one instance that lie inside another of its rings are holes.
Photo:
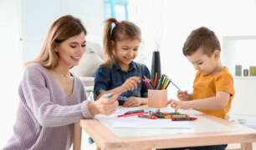
<path fill-rule="evenodd" d="M 230 93 L 230 99 L 226 107 L 220 110 L 197 110 L 216 117 L 226 119 L 234 95 L 233 77 L 228 71 L 228 68 L 223 67 L 223 69 L 220 72 L 207 76 L 203 76 L 201 72 L 197 72 L 197 76 L 193 84 L 193 100 L 207 97 L 215 97 L 216 92 L 218 91 Z"/>

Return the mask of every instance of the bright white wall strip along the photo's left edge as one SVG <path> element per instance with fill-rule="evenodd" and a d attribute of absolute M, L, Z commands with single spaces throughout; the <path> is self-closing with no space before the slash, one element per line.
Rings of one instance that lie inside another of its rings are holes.
<path fill-rule="evenodd" d="M 18 107 L 18 82 L 22 72 L 19 42 L 19 3 L 0 1 L 0 148 L 7 143 Z"/>

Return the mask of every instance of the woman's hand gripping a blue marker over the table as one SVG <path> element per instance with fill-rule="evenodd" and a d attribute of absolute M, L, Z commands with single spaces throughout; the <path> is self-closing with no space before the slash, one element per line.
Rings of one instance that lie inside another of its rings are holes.
<path fill-rule="evenodd" d="M 107 98 L 107 95 L 111 97 Z M 104 94 L 97 101 L 95 101 L 95 107 L 97 111 L 101 114 L 110 115 L 115 112 L 118 107 L 117 95 Z"/>

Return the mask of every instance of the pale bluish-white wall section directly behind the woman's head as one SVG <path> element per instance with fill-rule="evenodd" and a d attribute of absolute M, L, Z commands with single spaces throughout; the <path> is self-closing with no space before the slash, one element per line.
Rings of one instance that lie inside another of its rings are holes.
<path fill-rule="evenodd" d="M 102 42 L 102 0 L 18 0 L 21 1 L 23 62 L 32 60 L 44 42 L 49 27 L 64 15 L 81 19 L 88 30 L 86 40 Z"/>

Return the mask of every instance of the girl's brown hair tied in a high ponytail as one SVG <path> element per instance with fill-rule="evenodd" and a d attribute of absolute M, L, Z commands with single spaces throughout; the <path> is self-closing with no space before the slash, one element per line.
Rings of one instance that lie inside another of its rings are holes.
<path fill-rule="evenodd" d="M 113 23 L 115 23 L 114 28 L 112 28 Z M 111 42 L 116 43 L 126 39 L 141 41 L 141 29 L 129 21 L 119 23 L 115 18 L 109 18 L 105 21 L 103 49 L 105 51 L 106 62 L 100 67 L 112 67 L 113 65 L 114 53 Z"/>

